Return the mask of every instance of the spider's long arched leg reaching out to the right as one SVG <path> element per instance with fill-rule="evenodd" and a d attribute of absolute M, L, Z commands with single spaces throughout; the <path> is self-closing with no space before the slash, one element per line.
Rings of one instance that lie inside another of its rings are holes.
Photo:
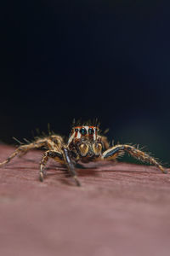
<path fill-rule="evenodd" d="M 151 165 L 158 167 L 163 173 L 167 173 L 167 170 L 165 170 L 163 166 L 161 166 L 153 157 L 151 157 L 149 154 L 144 153 L 138 148 L 134 148 L 131 145 L 116 145 L 112 148 L 109 148 L 102 154 L 101 159 L 113 160 L 116 159 L 116 157 L 118 157 L 119 155 L 123 154 L 124 152 L 131 154 L 136 159 L 139 159 L 143 162 L 150 163 Z"/>

